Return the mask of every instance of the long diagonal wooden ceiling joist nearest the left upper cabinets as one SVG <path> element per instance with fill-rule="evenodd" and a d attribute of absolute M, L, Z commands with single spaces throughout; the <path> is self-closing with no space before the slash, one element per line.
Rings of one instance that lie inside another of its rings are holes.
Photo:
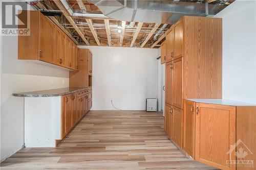
<path fill-rule="evenodd" d="M 63 7 L 63 5 L 61 4 L 60 1 L 53 1 L 56 6 L 63 11 L 63 15 L 65 15 L 65 17 L 68 19 L 68 21 L 70 22 L 70 24 L 73 26 L 73 28 L 76 30 L 76 32 L 79 34 L 79 36 L 82 38 L 82 40 L 87 44 L 90 45 L 89 42 L 87 41 L 86 37 L 84 37 L 83 33 L 81 32 L 81 30 L 79 30 L 79 28 L 77 27 L 75 21 L 73 20 L 73 18 L 69 15 L 68 11 L 66 10 L 65 7 Z"/>

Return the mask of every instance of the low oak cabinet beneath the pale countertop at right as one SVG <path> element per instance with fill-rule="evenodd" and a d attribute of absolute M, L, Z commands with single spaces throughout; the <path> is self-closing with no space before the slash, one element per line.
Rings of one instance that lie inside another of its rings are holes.
<path fill-rule="evenodd" d="M 183 114 L 183 149 L 196 161 L 220 169 L 253 169 L 236 163 L 256 162 L 256 106 L 184 100 Z"/>

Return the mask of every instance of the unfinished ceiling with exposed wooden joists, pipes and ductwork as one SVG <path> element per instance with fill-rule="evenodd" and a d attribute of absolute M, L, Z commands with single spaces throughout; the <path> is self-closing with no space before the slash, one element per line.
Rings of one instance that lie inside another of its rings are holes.
<path fill-rule="evenodd" d="M 210 15 L 212 9 L 215 10 L 213 13 L 219 12 L 233 1 L 30 0 L 27 2 L 39 10 L 45 10 L 45 15 L 51 15 L 49 18 L 76 44 L 158 48 L 165 39 L 166 31 L 181 16 Z M 135 2 L 137 5 L 134 6 Z M 166 8 L 167 5 L 173 6 Z M 160 19 L 152 17 L 157 15 L 161 16 Z"/>

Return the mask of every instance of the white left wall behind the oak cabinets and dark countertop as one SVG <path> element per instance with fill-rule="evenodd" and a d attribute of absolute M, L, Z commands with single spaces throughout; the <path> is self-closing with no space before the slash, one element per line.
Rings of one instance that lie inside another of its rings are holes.
<path fill-rule="evenodd" d="M 12 93 L 68 87 L 69 71 L 17 60 L 17 37 L 1 38 L 0 160 L 3 160 L 24 145 L 24 99 Z"/>

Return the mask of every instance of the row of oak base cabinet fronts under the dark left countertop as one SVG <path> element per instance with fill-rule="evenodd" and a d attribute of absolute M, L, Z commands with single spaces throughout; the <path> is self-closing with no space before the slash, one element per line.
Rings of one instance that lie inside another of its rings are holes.
<path fill-rule="evenodd" d="M 91 109 L 92 100 L 88 102 L 90 91 L 91 90 L 84 90 L 61 97 L 61 139 L 63 139 Z"/>

